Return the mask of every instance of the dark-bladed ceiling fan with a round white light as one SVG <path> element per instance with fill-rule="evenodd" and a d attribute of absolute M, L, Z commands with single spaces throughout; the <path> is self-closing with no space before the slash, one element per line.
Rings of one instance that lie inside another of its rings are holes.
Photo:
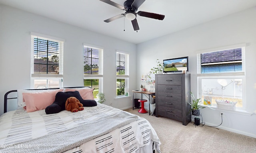
<path fill-rule="evenodd" d="M 114 21 L 116 19 L 126 17 L 128 20 L 132 21 L 132 26 L 133 26 L 134 31 L 137 31 L 137 30 L 140 29 L 139 26 L 138 26 L 137 19 L 136 19 L 137 15 L 144 16 L 144 17 L 147 17 L 147 18 L 164 20 L 164 15 L 161 15 L 161 14 L 155 14 L 155 13 L 143 12 L 143 11 L 138 11 L 136 13 L 138 8 L 141 6 L 141 4 L 143 2 L 145 2 L 145 0 L 126 0 L 124 2 L 124 6 L 121 6 L 121 5 L 119 5 L 115 2 L 112 2 L 111 0 L 100 0 L 100 1 L 105 2 L 107 4 L 115 6 L 116 8 L 120 8 L 121 10 L 126 11 L 124 14 L 119 14 L 117 16 L 114 16 L 112 18 L 104 20 L 104 22 L 111 22 L 111 21 Z"/>

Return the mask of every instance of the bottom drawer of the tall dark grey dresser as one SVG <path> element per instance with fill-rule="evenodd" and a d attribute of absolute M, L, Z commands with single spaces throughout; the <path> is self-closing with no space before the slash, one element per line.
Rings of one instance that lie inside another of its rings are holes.
<path fill-rule="evenodd" d="M 182 110 L 175 108 L 165 108 L 164 106 L 158 106 L 158 114 L 163 117 L 182 120 Z"/>

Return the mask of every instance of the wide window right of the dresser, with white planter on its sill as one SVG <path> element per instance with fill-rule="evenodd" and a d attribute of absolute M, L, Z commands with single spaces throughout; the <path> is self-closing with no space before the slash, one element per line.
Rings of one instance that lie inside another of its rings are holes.
<path fill-rule="evenodd" d="M 245 44 L 198 53 L 198 94 L 202 103 L 217 106 L 216 100 L 236 103 L 245 110 Z"/>

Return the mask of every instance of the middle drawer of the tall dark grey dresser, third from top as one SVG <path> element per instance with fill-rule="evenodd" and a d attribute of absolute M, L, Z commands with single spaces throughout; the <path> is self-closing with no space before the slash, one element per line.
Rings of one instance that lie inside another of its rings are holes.
<path fill-rule="evenodd" d="M 178 101 L 180 102 L 180 105 L 181 105 L 181 101 L 182 101 L 181 93 L 157 92 L 157 96 L 158 96 L 158 102 L 160 100 L 166 101 L 166 102 Z"/>

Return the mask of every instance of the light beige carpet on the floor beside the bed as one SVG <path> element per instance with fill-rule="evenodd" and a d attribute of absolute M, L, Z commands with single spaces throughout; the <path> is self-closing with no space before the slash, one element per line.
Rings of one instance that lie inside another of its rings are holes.
<path fill-rule="evenodd" d="M 156 130 L 161 153 L 256 153 L 256 138 L 240 135 L 206 125 L 195 127 L 193 123 L 138 113 L 138 109 L 124 110 L 145 118 Z"/>

